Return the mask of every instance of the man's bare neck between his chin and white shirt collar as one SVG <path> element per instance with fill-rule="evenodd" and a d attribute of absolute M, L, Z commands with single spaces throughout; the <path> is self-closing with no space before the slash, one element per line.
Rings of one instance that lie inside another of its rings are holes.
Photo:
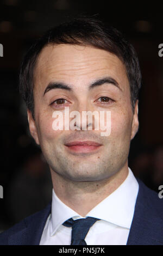
<path fill-rule="evenodd" d="M 128 175 L 128 163 L 116 174 L 100 181 L 74 182 L 51 170 L 52 182 L 57 197 L 80 216 L 85 215 L 97 204 L 114 192 Z"/>

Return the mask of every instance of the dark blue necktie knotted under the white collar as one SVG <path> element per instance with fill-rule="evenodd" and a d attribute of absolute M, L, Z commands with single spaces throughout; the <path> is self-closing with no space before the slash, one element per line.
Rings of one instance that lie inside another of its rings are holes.
<path fill-rule="evenodd" d="M 96 222 L 100 221 L 99 218 L 80 218 L 79 220 L 73 220 L 70 218 L 65 221 L 63 225 L 66 227 L 72 227 L 71 233 L 71 245 L 86 245 L 85 236 L 87 235 L 90 227 Z"/>

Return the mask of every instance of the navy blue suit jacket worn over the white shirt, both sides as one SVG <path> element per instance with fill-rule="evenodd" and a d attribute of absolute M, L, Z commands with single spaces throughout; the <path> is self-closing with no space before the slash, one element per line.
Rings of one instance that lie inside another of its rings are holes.
<path fill-rule="evenodd" d="M 127 245 L 163 245 L 163 198 L 139 182 Z M 108 209 L 109 210 L 109 209 Z M 121 209 L 120 209 L 121 211 Z M 39 245 L 51 203 L 0 234 L 0 245 Z"/>

